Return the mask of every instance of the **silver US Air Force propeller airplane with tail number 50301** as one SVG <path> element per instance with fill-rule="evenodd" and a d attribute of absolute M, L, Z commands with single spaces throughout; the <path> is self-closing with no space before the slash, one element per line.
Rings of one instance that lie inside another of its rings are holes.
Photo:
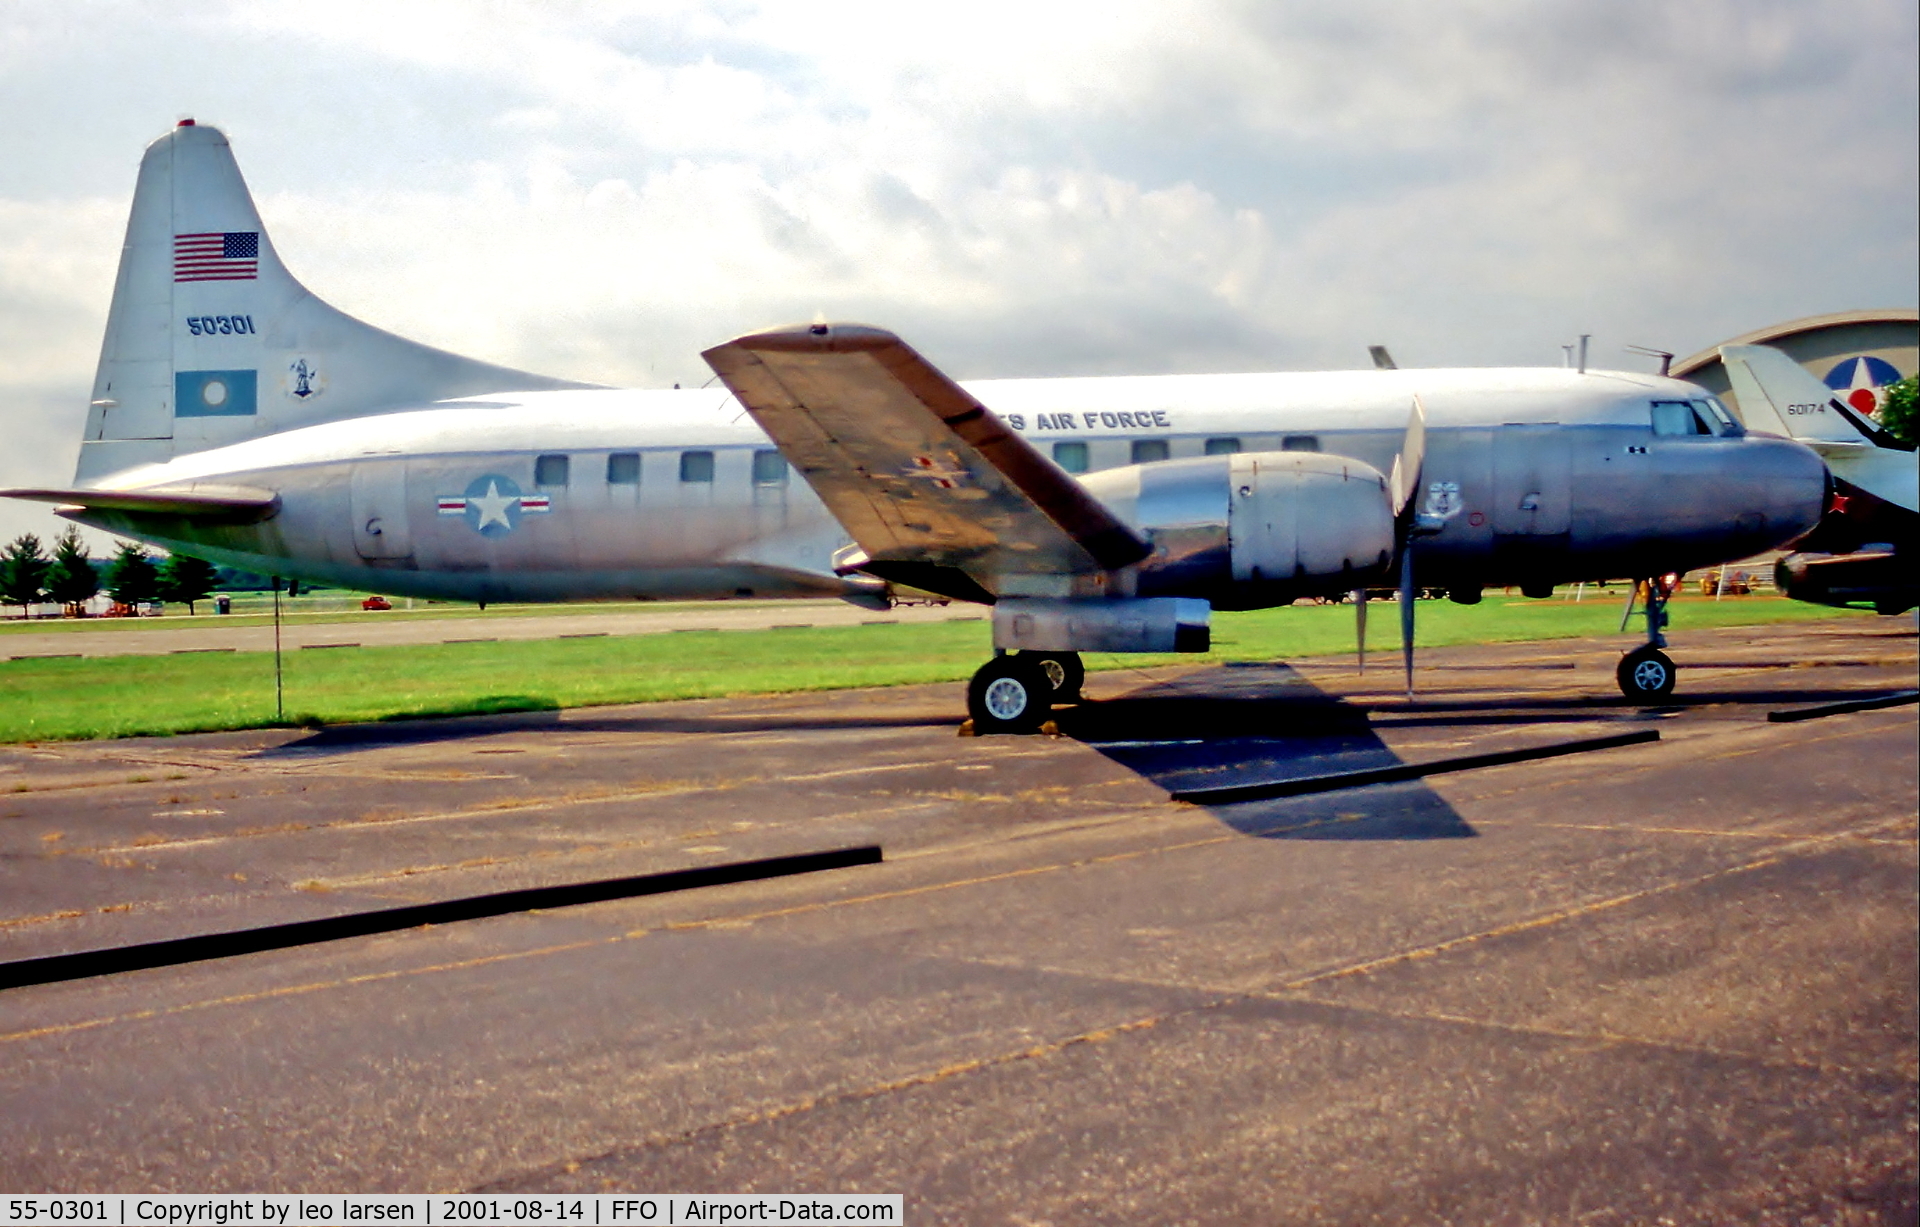
<path fill-rule="evenodd" d="M 845 325 L 707 359 L 732 396 L 547 378 L 355 321 L 280 263 L 227 138 L 182 121 L 140 163 L 73 486 L 4 493 L 417 597 L 981 601 L 979 732 L 1037 728 L 1081 651 L 1204 651 L 1212 609 L 1398 580 L 1405 620 L 1415 584 L 1473 603 L 1659 576 L 1791 541 L 1828 497 L 1812 451 L 1644 374 L 956 384 Z M 1672 687 L 1659 605 L 1630 695 Z"/>

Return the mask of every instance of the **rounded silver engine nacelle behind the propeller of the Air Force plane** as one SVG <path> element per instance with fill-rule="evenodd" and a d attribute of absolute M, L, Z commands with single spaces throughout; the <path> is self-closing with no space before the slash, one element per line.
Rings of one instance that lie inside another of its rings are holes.
<path fill-rule="evenodd" d="M 1319 451 L 1242 451 L 1081 478 L 1154 553 L 1135 591 L 1260 609 L 1386 580 L 1386 478 Z"/>

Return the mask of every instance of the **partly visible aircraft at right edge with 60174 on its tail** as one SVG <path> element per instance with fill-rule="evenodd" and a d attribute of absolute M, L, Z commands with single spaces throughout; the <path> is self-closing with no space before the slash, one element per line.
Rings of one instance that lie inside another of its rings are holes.
<path fill-rule="evenodd" d="M 1807 444 L 1834 474 L 1834 499 L 1820 526 L 1774 566 L 1780 591 L 1816 605 L 1872 605 L 1884 614 L 1920 605 L 1914 449 L 1780 349 L 1720 346 L 1720 361 L 1747 424 Z M 1872 401 L 1872 394 L 1864 399 Z"/>

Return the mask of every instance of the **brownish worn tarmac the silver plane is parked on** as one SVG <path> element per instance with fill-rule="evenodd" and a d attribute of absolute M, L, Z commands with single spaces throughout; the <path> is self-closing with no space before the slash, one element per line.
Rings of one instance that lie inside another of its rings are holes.
<path fill-rule="evenodd" d="M 0 993 L 10 1191 L 864 1191 L 912 1223 L 1916 1214 L 1910 620 L 0 749 L 0 956 L 885 864 Z M 1200 806 L 1169 789 L 1655 743 Z"/>

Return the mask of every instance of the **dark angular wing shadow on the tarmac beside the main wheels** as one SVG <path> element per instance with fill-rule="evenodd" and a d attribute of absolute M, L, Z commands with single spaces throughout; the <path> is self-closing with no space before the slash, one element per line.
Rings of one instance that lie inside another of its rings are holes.
<path fill-rule="evenodd" d="M 1388 768 L 1367 712 L 1286 664 L 1206 670 L 1058 714 L 1060 732 L 1167 791 Z M 1208 805 L 1263 839 L 1465 839 L 1476 831 L 1421 780 Z"/>

